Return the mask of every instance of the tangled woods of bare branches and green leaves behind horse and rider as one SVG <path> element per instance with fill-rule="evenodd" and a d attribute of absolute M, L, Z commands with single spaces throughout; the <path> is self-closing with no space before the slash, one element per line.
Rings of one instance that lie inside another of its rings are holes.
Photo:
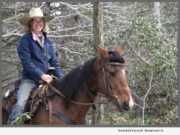
<path fill-rule="evenodd" d="M 16 46 L 23 34 L 17 21 L 32 6 L 52 17 L 49 37 L 59 52 L 65 74 L 95 55 L 93 3 L 1 2 L 1 87 L 3 95 L 20 78 Z M 125 48 L 128 81 L 142 104 L 118 112 L 111 104 L 89 110 L 88 125 L 166 125 L 177 121 L 177 2 L 104 2 L 104 46 Z M 103 98 L 97 100 L 106 101 Z"/>

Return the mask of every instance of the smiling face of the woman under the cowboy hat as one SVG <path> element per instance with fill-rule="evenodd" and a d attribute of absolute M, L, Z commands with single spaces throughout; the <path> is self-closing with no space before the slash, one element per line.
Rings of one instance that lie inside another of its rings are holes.
<path fill-rule="evenodd" d="M 32 20 L 32 31 L 35 33 L 42 32 L 44 25 L 44 20 L 42 18 L 34 17 Z"/>

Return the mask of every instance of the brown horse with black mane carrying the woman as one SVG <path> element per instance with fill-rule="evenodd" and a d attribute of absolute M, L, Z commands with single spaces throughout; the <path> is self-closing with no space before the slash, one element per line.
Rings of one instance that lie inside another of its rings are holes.
<path fill-rule="evenodd" d="M 98 56 L 73 69 L 63 79 L 54 79 L 48 91 L 47 105 L 41 105 L 31 124 L 84 124 L 90 106 L 98 93 L 106 96 L 120 109 L 134 105 L 128 86 L 123 49 L 98 49 Z"/>

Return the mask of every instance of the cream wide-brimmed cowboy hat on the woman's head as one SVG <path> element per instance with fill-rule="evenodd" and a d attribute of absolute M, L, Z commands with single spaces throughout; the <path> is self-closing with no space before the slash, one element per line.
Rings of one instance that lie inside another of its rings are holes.
<path fill-rule="evenodd" d="M 43 11 L 41 10 L 40 7 L 32 7 L 29 11 L 29 14 L 24 15 L 23 17 L 21 17 L 18 21 L 22 24 L 27 26 L 29 21 L 34 18 L 34 17 L 41 17 L 44 18 L 45 21 L 49 21 L 52 18 L 49 16 L 44 16 Z"/>

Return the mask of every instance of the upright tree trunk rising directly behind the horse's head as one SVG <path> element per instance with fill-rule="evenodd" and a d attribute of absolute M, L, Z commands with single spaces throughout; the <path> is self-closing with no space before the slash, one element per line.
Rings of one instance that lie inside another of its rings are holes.
<path fill-rule="evenodd" d="M 103 7 L 102 3 L 100 3 L 100 0 L 94 1 L 94 22 L 93 22 L 93 30 L 94 30 L 94 50 L 97 53 L 98 47 L 104 46 L 104 37 L 103 37 Z M 99 98 L 98 100 L 102 100 Z M 103 118 L 104 114 L 104 105 L 98 106 L 100 109 L 100 119 Z M 96 112 L 93 110 L 92 112 L 92 124 L 96 123 Z"/>

